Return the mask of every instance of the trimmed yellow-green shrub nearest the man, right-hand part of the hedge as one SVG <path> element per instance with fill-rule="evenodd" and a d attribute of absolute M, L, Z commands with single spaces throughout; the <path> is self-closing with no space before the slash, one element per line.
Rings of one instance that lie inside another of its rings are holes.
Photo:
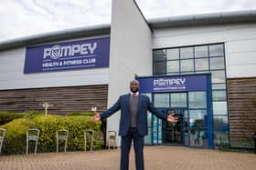
<path fill-rule="evenodd" d="M 42 115 L 32 119 L 40 130 L 37 150 L 38 152 L 56 151 L 56 131 L 59 129 L 69 130 L 68 148 L 69 151 L 84 149 L 84 130 L 92 129 L 99 132 L 101 123 L 91 121 L 91 116 L 57 116 Z M 99 135 L 95 133 L 95 139 L 98 141 Z M 89 143 L 87 147 L 89 148 Z M 100 143 L 95 142 L 96 147 L 101 147 Z M 59 141 L 59 150 L 62 151 L 64 141 Z"/>

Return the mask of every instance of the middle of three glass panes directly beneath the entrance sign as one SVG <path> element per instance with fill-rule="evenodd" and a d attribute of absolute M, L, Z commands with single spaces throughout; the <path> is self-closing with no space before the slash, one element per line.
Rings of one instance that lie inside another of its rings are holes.
<path fill-rule="evenodd" d="M 186 93 L 171 94 L 171 107 L 187 107 L 187 94 Z"/>

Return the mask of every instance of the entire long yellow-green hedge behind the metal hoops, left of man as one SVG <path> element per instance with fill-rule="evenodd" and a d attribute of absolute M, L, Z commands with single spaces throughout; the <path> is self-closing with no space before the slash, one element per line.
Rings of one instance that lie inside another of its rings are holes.
<path fill-rule="evenodd" d="M 59 129 L 69 130 L 68 151 L 84 150 L 84 130 L 92 129 L 96 131 L 95 138 L 99 141 L 101 122 L 94 123 L 91 116 L 58 116 L 58 115 L 37 115 L 34 118 L 16 119 L 10 123 L 0 126 L 5 128 L 6 135 L 2 152 L 5 154 L 25 154 L 26 153 L 26 132 L 28 128 L 38 128 L 40 135 L 38 139 L 37 152 L 56 152 L 56 131 Z M 29 143 L 29 152 L 33 152 L 34 147 Z M 87 147 L 89 148 L 89 143 Z M 101 147 L 98 142 L 95 147 Z M 59 151 L 64 150 L 64 141 L 59 143 Z"/>

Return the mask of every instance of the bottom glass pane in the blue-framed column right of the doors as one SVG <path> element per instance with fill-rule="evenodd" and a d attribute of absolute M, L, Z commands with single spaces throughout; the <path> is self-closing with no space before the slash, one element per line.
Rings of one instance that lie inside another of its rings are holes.
<path fill-rule="evenodd" d="M 208 146 L 208 136 L 205 130 L 190 130 L 190 145 Z"/>

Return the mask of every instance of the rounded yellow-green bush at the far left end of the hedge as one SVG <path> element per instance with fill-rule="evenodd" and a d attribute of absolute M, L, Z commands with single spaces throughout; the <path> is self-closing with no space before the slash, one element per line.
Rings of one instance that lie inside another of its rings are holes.
<path fill-rule="evenodd" d="M 2 152 L 7 155 L 25 154 L 27 129 L 35 127 L 35 124 L 28 119 L 18 118 L 0 127 L 6 129 Z"/>

